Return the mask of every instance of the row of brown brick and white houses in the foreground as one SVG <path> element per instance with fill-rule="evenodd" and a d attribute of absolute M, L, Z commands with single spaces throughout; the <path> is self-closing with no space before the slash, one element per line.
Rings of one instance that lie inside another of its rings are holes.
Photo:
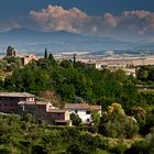
<path fill-rule="evenodd" d="M 82 123 L 90 123 L 91 111 L 101 116 L 101 106 L 73 103 L 59 109 L 51 102 L 36 101 L 33 95 L 26 92 L 0 92 L 0 112 L 20 116 L 31 113 L 38 122 L 46 124 L 72 125 L 70 113 L 77 113 Z"/>

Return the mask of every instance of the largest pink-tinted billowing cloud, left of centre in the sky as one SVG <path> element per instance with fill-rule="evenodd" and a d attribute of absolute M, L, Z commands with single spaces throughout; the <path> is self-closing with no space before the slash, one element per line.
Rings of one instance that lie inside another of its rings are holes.
<path fill-rule="evenodd" d="M 31 11 L 30 16 L 45 31 L 78 32 L 82 23 L 88 20 L 88 15 L 77 8 L 65 10 L 52 4 L 38 12 Z"/>

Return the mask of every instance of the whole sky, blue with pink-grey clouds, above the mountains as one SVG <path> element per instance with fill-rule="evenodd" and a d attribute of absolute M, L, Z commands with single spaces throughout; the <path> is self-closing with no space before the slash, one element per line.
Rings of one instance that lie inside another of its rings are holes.
<path fill-rule="evenodd" d="M 154 38 L 154 0 L 0 0 L 0 32 L 19 28 Z"/>

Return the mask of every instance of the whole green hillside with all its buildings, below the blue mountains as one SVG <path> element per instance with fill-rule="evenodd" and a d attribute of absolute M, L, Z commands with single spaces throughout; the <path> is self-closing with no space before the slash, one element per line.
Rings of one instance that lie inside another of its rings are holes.
<path fill-rule="evenodd" d="M 0 153 L 131 154 L 139 144 L 152 151 L 147 59 L 62 58 L 47 48 L 37 57 L 8 46 L 0 61 Z"/>

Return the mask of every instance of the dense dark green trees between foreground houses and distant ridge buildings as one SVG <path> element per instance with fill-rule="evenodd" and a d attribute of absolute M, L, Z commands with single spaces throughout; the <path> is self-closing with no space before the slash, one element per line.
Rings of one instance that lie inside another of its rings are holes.
<path fill-rule="evenodd" d="M 80 97 L 92 105 L 103 102 L 103 109 L 112 101 L 118 101 L 127 112 L 142 101 L 142 96 L 124 72 L 85 69 L 79 62 L 75 65 L 74 68 L 70 61 L 58 64 L 51 53 L 46 58 L 15 69 L 12 76 L 1 84 L 1 89 L 32 94 L 54 90 L 64 101 L 72 102 L 75 97 Z M 146 99 L 144 101 L 146 102 Z"/>

